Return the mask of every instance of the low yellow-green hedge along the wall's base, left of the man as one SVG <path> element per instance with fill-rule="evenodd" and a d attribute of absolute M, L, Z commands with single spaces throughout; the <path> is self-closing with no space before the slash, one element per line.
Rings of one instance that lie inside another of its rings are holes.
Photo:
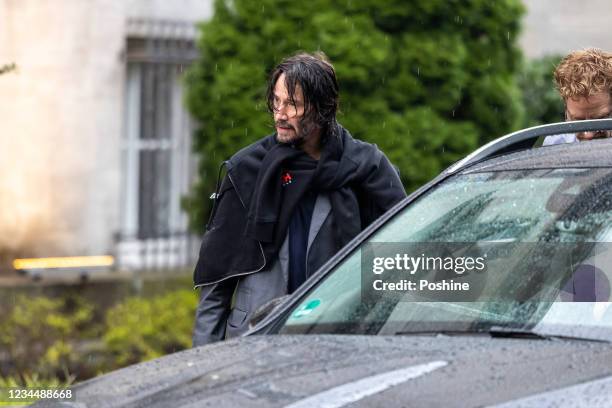
<path fill-rule="evenodd" d="M 193 290 L 126 298 L 104 313 L 75 296 L 18 296 L 0 317 L 0 385 L 69 384 L 188 348 L 196 305 Z"/>

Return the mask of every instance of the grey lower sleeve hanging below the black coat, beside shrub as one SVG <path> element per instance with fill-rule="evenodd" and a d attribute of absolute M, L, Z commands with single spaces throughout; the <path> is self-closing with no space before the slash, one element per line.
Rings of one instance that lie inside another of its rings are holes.
<path fill-rule="evenodd" d="M 225 339 L 227 318 L 238 278 L 203 286 L 196 308 L 193 347 Z"/>

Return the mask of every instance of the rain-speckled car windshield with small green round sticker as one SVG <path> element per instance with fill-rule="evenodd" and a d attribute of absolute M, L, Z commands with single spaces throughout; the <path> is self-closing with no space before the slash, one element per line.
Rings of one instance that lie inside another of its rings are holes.
<path fill-rule="evenodd" d="M 610 241 L 609 168 L 459 174 L 413 201 L 348 255 L 302 297 L 279 332 L 388 335 L 501 326 L 612 340 Z M 382 284 L 373 282 L 385 274 L 372 275 L 364 260 L 411 245 L 421 245 L 416 250 L 423 255 L 424 243 L 443 245 L 453 256 L 466 248 L 488 255 L 486 272 L 455 276 L 480 285 L 471 297 L 410 290 L 387 296 L 377 290 Z"/>

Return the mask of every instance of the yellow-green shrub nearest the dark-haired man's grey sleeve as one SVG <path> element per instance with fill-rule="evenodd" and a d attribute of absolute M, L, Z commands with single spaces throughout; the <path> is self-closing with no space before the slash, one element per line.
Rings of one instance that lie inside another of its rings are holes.
<path fill-rule="evenodd" d="M 105 349 L 125 366 L 191 347 L 196 305 L 193 290 L 127 299 L 106 314 Z"/>

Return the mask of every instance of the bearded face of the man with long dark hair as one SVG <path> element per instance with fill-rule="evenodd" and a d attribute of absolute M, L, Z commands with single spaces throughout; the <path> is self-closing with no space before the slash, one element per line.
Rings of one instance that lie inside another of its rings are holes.
<path fill-rule="evenodd" d="M 314 130 L 314 126 L 304 129 L 300 123 L 304 117 L 304 94 L 300 84 L 295 86 L 293 100 L 285 85 L 285 74 L 281 74 L 274 85 L 274 126 L 280 143 L 301 144 Z"/>

